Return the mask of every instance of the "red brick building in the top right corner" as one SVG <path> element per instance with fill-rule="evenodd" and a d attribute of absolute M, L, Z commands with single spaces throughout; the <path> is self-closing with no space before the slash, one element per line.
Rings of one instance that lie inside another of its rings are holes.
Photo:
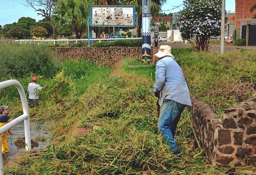
<path fill-rule="evenodd" d="M 241 24 L 245 25 L 247 20 L 250 20 L 253 14 L 256 13 L 256 10 L 250 13 L 250 7 L 254 4 L 256 4 L 256 0 L 236 0 L 236 29 L 241 29 Z"/>

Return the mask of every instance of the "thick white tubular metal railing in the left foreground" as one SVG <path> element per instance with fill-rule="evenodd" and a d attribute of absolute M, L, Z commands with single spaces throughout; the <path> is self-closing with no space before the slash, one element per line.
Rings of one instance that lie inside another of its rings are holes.
<path fill-rule="evenodd" d="M 11 79 L 7 81 L 3 81 L 0 83 L 0 89 L 6 88 L 9 86 L 15 86 L 18 89 L 20 94 L 20 99 L 23 108 L 23 114 L 17 117 L 16 119 L 6 123 L 4 126 L 0 128 L 0 135 L 12 128 L 13 126 L 17 125 L 18 123 L 24 121 L 24 130 L 25 130 L 25 143 L 26 143 L 26 151 L 31 150 L 31 136 L 30 136 L 30 123 L 29 123 L 29 112 L 28 112 L 28 101 L 26 98 L 26 94 L 20 82 L 17 80 Z M 2 139 L 0 139 L 0 148 L 2 148 Z M 3 164 L 3 157 L 2 157 L 2 149 L 0 155 L 0 175 L 4 175 L 4 164 Z"/>

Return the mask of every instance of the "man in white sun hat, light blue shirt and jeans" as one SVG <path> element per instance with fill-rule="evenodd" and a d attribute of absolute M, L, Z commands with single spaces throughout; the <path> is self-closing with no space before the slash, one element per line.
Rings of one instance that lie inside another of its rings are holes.
<path fill-rule="evenodd" d="M 190 94 L 182 70 L 171 54 L 171 47 L 161 45 L 155 56 L 158 61 L 153 92 L 162 106 L 157 125 L 170 151 L 179 154 L 174 137 L 182 111 L 191 106 Z"/>

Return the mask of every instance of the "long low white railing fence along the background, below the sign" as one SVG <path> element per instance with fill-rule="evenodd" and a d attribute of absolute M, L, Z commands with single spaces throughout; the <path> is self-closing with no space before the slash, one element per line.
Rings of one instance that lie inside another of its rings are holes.
<path fill-rule="evenodd" d="M 114 40 L 137 40 L 137 39 L 142 39 L 142 38 L 90 38 L 89 42 L 93 42 L 93 41 L 105 41 L 105 42 L 110 42 L 110 41 L 114 41 Z M 88 39 L 59 39 L 59 40 L 15 40 L 16 43 L 37 43 L 38 45 L 40 43 L 48 43 L 48 42 L 52 42 L 53 44 L 56 44 L 58 42 L 62 42 L 62 44 L 69 44 L 69 43 L 77 43 L 77 42 L 87 42 L 88 43 Z"/>

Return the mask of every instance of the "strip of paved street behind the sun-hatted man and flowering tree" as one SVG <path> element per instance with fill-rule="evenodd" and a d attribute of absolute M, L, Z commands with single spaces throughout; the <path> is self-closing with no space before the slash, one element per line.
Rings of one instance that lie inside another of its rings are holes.
<path fill-rule="evenodd" d="M 181 47 L 181 48 L 192 47 L 190 43 L 185 44 L 185 43 L 160 42 L 160 43 L 158 43 L 158 47 L 160 45 L 169 45 L 171 47 Z M 239 47 L 239 46 L 234 46 L 234 45 L 225 45 L 225 51 L 230 51 L 230 52 L 233 52 L 236 49 L 241 49 L 241 48 L 254 50 L 254 49 L 256 49 L 256 46 Z M 212 48 L 210 49 L 210 51 L 220 51 L 220 45 L 212 45 Z"/>

